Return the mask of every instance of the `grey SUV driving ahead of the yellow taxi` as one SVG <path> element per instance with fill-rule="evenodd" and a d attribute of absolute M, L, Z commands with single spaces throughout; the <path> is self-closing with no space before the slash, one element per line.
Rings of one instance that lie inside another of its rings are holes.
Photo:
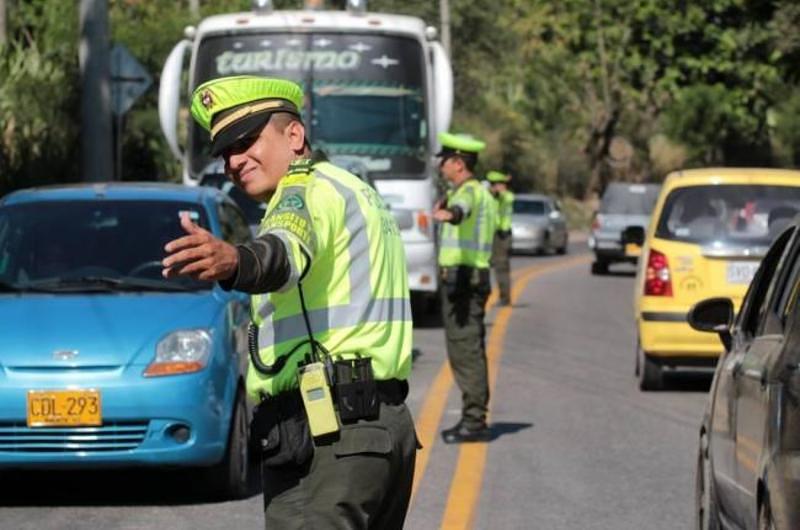
<path fill-rule="evenodd" d="M 592 221 L 589 248 L 594 251 L 592 274 L 605 274 L 611 263 L 636 263 L 641 248 L 626 245 L 622 232 L 630 226 L 647 230 L 659 184 L 612 182 L 600 200 L 600 210 Z"/>

